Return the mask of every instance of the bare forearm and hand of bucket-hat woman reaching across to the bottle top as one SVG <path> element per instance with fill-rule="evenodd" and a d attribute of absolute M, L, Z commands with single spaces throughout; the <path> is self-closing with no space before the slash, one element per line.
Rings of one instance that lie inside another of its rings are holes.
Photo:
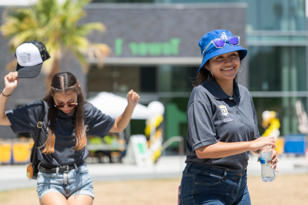
<path fill-rule="evenodd" d="M 272 145 L 275 147 L 274 136 L 260 137 L 253 141 L 241 142 L 217 142 L 214 145 L 208 145 L 196 150 L 198 158 L 221 158 L 241 154 L 247 151 L 257 151 L 264 146 Z"/>

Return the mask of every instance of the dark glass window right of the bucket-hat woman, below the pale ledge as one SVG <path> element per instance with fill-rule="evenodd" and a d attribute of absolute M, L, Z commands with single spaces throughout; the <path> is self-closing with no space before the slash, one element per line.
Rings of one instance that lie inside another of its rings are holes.
<path fill-rule="evenodd" d="M 305 47 L 251 46 L 250 91 L 305 91 Z"/>

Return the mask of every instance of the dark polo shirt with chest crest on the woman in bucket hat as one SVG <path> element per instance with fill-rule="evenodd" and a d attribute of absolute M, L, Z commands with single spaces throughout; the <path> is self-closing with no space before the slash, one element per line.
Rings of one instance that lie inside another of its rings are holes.
<path fill-rule="evenodd" d="M 188 132 L 185 163 L 201 163 L 225 171 L 243 170 L 248 165 L 248 152 L 222 158 L 199 159 L 196 149 L 221 142 L 252 141 L 259 138 L 253 99 L 248 90 L 233 81 L 232 97 L 208 75 L 195 87 L 187 107 Z"/>

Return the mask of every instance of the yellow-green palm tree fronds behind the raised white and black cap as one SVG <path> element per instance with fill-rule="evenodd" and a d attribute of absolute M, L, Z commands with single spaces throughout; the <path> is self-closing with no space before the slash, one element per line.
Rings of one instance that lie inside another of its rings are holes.
<path fill-rule="evenodd" d="M 79 25 L 79 20 L 85 15 L 83 7 L 91 0 L 66 0 L 59 4 L 57 0 L 39 0 L 28 8 L 11 8 L 6 11 L 5 23 L 0 32 L 10 37 L 10 51 L 29 40 L 38 40 L 45 44 L 51 58 L 43 64 L 42 71 L 46 74 L 46 89 L 49 88 L 52 76 L 61 71 L 60 60 L 67 51 L 75 54 L 86 73 L 88 65 L 86 56 L 97 57 L 102 68 L 103 59 L 111 50 L 105 44 L 93 44 L 87 39 L 87 34 L 93 30 L 103 32 L 101 23 Z M 16 68 L 16 59 L 12 60 L 7 69 Z"/>

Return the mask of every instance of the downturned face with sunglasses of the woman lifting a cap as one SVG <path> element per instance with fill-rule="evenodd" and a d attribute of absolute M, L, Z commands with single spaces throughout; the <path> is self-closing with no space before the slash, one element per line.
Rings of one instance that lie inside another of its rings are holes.
<path fill-rule="evenodd" d="M 53 95 L 53 100 L 55 105 L 64 106 L 63 108 L 59 108 L 61 111 L 66 113 L 68 116 L 72 116 L 75 108 L 68 107 L 68 105 L 77 103 L 77 96 L 77 93 L 74 91 L 67 91 L 66 93 L 56 92 Z"/>

